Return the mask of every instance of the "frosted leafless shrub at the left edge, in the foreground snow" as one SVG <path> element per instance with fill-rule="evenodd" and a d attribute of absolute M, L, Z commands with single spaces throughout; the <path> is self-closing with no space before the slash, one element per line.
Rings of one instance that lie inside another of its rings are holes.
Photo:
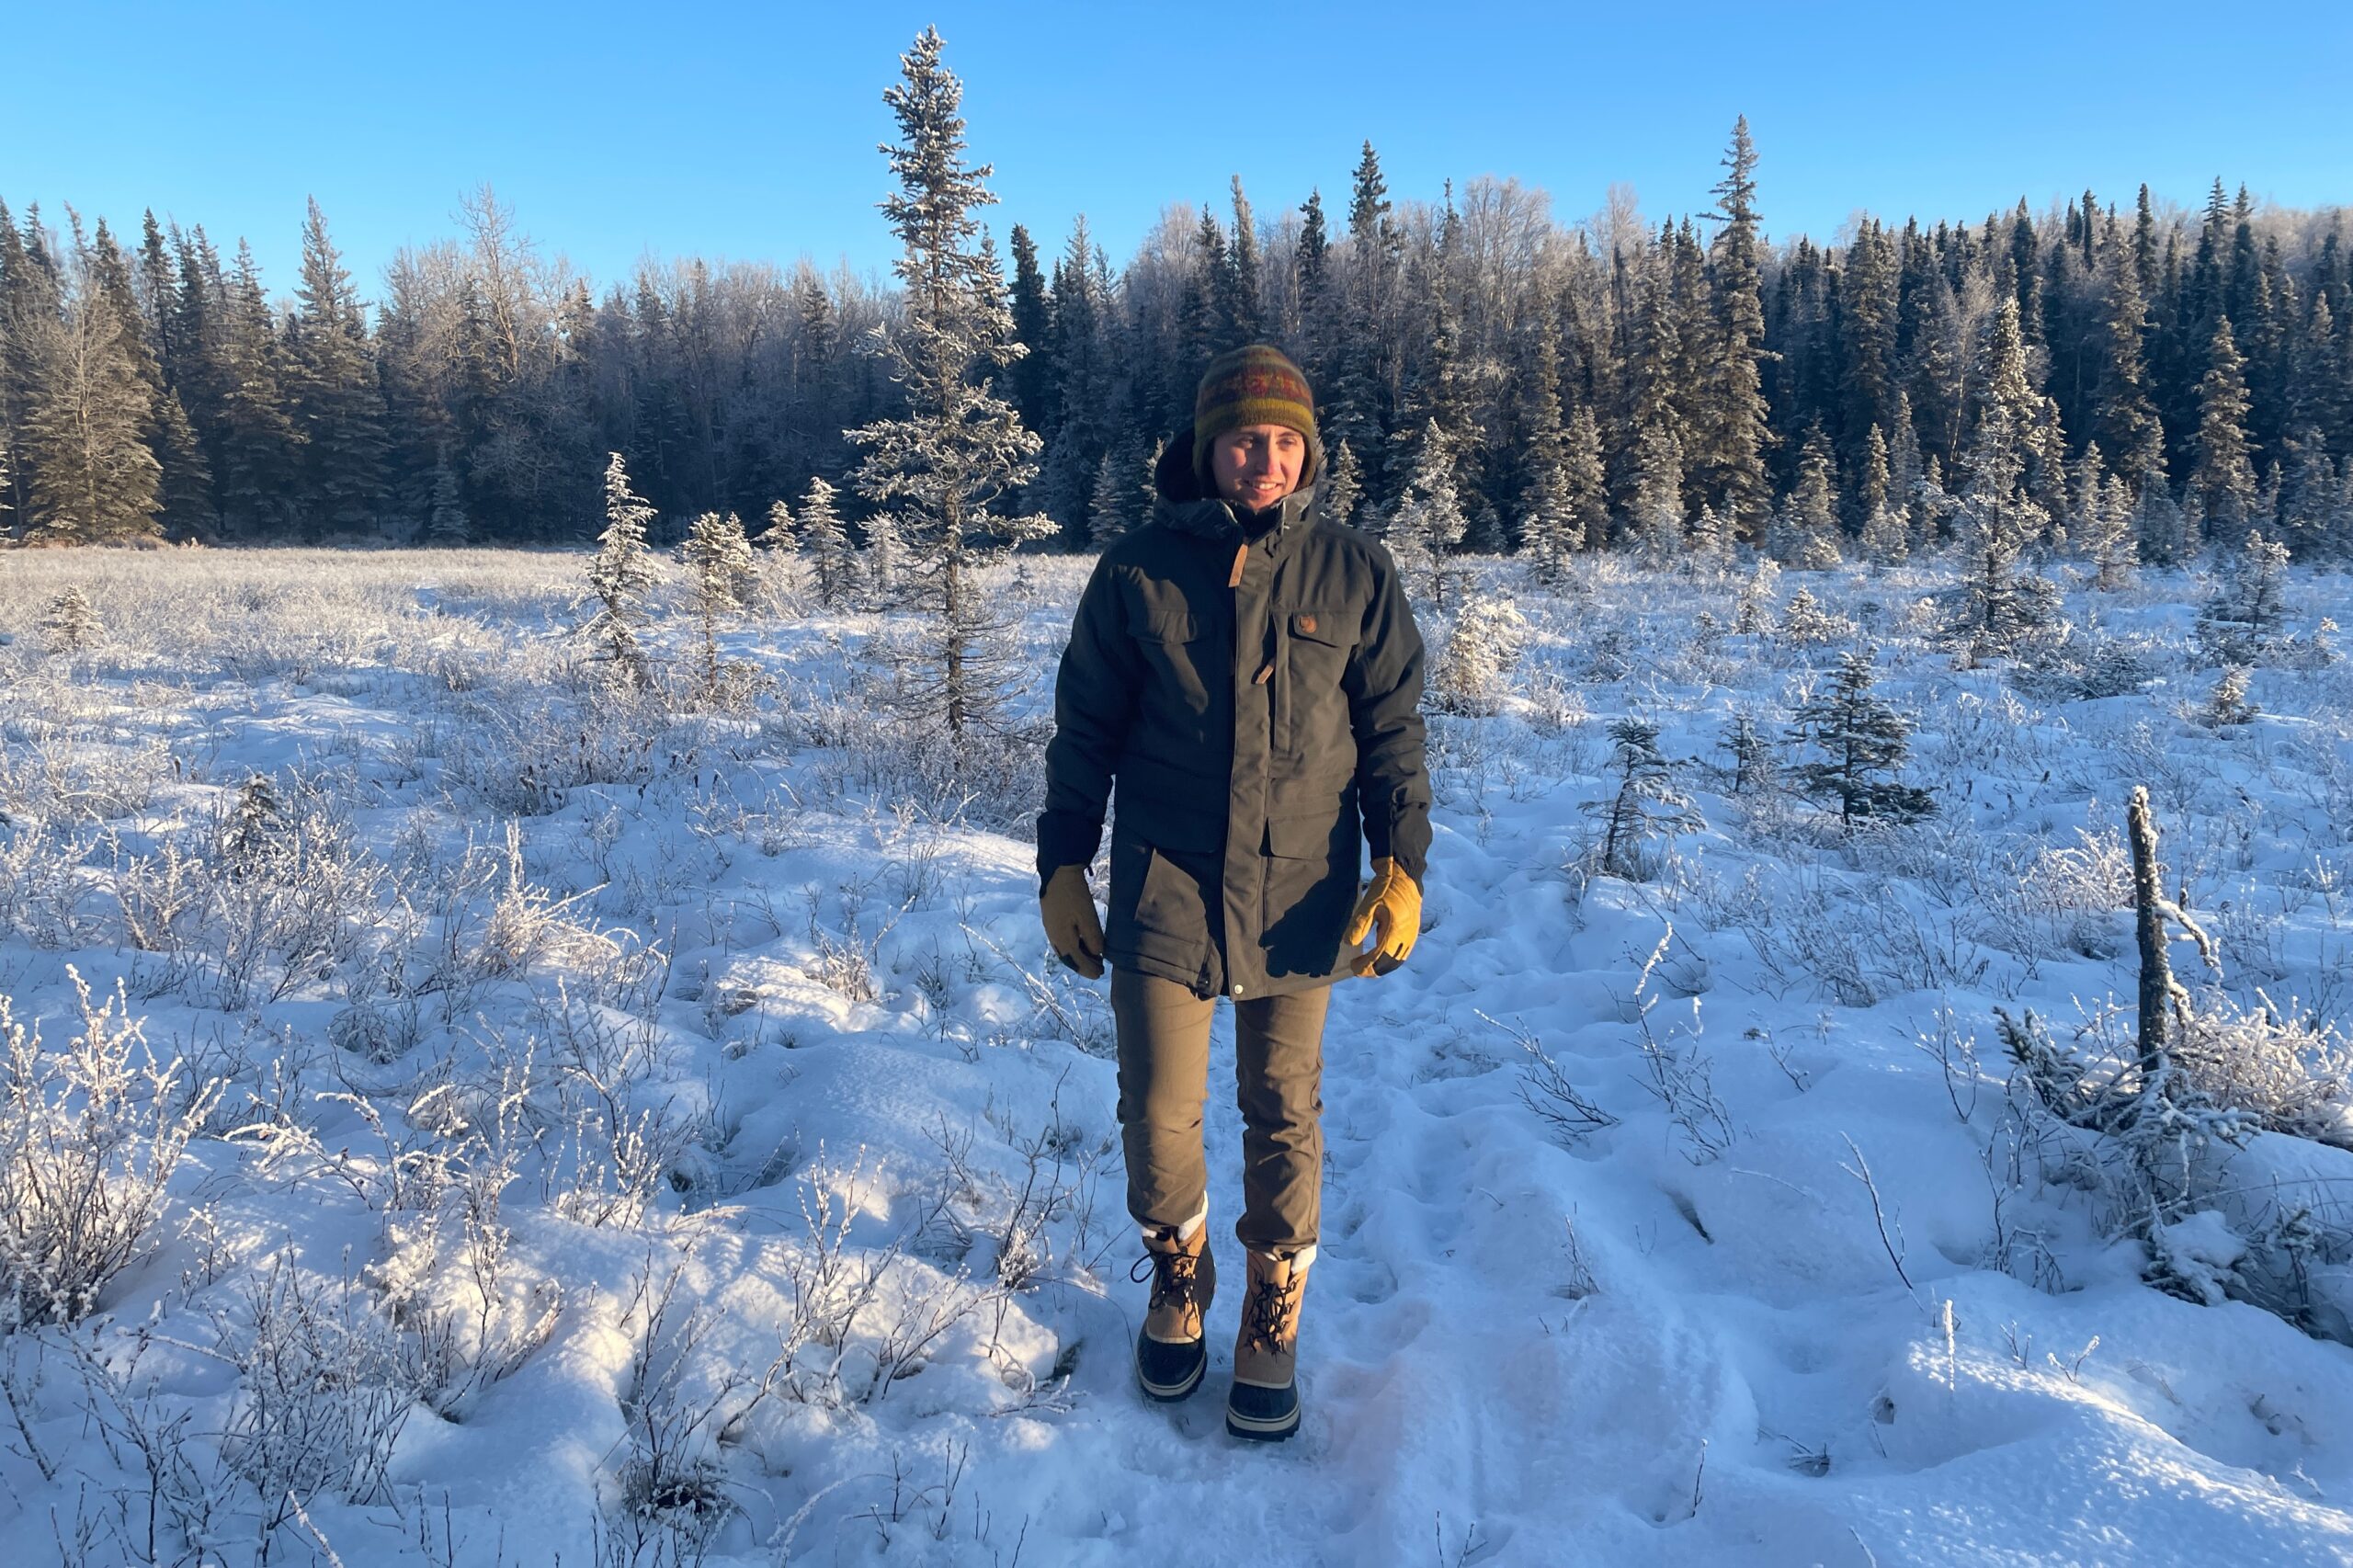
<path fill-rule="evenodd" d="M 68 965 L 82 1026 L 59 1052 L 0 996 L 0 1328 L 75 1323 L 146 1257 L 172 1172 L 219 1085 L 158 1064 L 122 986 L 96 1008 Z M 176 1107 L 176 1109 L 174 1109 Z"/>

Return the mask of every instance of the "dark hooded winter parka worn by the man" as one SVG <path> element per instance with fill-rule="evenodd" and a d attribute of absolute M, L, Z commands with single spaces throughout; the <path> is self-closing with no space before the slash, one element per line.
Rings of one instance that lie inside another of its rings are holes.
<path fill-rule="evenodd" d="M 1151 523 L 1080 593 L 1038 871 L 1094 859 L 1118 784 L 1106 958 L 1198 996 L 1304 991 L 1346 972 L 1367 843 L 1424 881 L 1421 633 L 1379 542 L 1301 490 L 1245 549 L 1191 457 L 1179 431 Z"/>

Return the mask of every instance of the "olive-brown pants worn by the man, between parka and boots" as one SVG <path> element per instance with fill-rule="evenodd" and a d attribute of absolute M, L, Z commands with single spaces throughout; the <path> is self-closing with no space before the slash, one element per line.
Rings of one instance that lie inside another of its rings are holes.
<path fill-rule="evenodd" d="M 1332 986 L 1233 1003 L 1235 1099 L 1242 1109 L 1242 1217 L 1257 1253 L 1315 1245 L 1322 1208 L 1322 1024 Z M 1209 1205 L 1200 1107 L 1209 1095 L 1209 1017 L 1174 979 L 1113 965 L 1120 1036 L 1120 1144 L 1127 1212 L 1146 1229 L 1191 1234 Z"/>

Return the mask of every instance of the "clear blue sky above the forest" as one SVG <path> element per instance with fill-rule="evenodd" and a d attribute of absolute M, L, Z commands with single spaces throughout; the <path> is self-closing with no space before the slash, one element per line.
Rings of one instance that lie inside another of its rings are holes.
<path fill-rule="evenodd" d="M 1438 14 L 1440 21 L 1431 21 Z M 1958 21 L 1939 21 L 1955 16 Z M 1002 231 L 1113 264 L 1240 174 L 1261 214 L 1515 174 L 1560 217 L 1626 181 L 1704 207 L 1732 118 L 1774 235 L 1857 210 L 1984 217 L 2221 174 L 2353 202 L 2353 5 L 42 5 L 9 24 L 0 198 L 254 242 L 289 290 L 304 198 L 372 292 L 480 181 L 600 285 L 645 254 L 885 268 L 882 89 L 927 24 L 965 78 Z"/>

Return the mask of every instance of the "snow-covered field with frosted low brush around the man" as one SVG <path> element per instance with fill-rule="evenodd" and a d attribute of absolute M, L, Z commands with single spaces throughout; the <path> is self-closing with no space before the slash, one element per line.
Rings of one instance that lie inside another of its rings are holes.
<path fill-rule="evenodd" d="M 1426 932 L 1334 996 L 1306 1424 L 1254 1448 L 1233 1295 L 1202 1394 L 1132 1389 L 1038 737 L 958 782 L 911 619 L 774 603 L 715 697 L 682 612 L 614 695 L 581 565 L 0 556 L 0 1563 L 2353 1561 L 2344 577 L 2217 716 L 2205 574 L 2071 582 L 2021 669 L 1929 636 L 1941 567 L 1475 563 L 1525 652 L 1457 666 L 1499 711 L 1431 718 Z M 1085 570 L 1000 570 L 1033 725 Z M 1859 643 L 1939 810 L 1849 833 L 1786 735 Z M 1628 716 L 1689 810 L 1624 876 Z M 2118 1057 L 2134 784 L 2184 982 L 2261 1019 L 2169 1189 L 1995 1034 Z"/>

